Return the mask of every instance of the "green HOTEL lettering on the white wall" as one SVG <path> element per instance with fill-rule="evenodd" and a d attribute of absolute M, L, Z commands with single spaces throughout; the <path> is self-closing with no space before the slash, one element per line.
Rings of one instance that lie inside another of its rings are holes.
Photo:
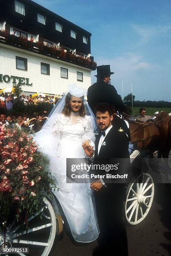
<path fill-rule="evenodd" d="M 33 83 L 29 84 L 29 78 L 0 74 L 0 82 L 8 83 L 11 80 L 13 84 L 30 85 L 30 86 L 33 85 Z"/>

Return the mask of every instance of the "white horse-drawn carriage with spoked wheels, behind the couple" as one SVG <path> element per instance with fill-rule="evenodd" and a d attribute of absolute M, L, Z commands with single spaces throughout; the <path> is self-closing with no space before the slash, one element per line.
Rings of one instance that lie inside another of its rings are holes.
<path fill-rule="evenodd" d="M 137 225 L 146 218 L 154 197 L 153 178 L 148 174 L 148 170 L 143 172 L 135 164 L 141 157 L 144 156 L 139 154 L 139 151 L 136 155 L 131 156 L 131 166 L 134 170 L 136 169 L 136 175 L 134 180 L 128 184 L 126 202 L 124 203 L 124 217 L 126 223 L 130 225 Z M 20 232 L 18 223 L 13 222 L 8 226 L 5 236 L 3 233 L 0 234 L 0 255 L 4 254 L 3 248 L 6 250 L 6 255 L 15 248 L 18 248 L 16 254 L 21 256 L 26 255 L 25 248 L 29 248 L 30 255 L 50 255 L 56 243 L 56 238 L 63 230 L 63 223 L 67 227 L 68 223 L 55 196 L 44 198 L 43 204 L 44 207 L 41 209 L 42 220 L 40 220 L 38 212 L 32 215 L 28 219 L 28 230 Z"/>

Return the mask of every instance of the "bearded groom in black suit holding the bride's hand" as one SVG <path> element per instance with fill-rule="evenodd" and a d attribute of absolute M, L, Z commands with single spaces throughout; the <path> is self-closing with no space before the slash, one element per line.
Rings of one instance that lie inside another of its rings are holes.
<path fill-rule="evenodd" d="M 94 158 L 93 164 L 110 164 L 112 159 L 116 158 L 127 158 L 129 161 L 128 136 L 122 127 L 118 129 L 117 123 L 112 125 L 112 120 L 112 105 L 108 103 L 98 104 L 96 106 L 96 122 L 100 133 L 96 137 L 96 149 L 94 153 L 91 147 L 85 150 L 90 158 Z M 95 174 L 104 174 L 105 172 L 100 170 L 96 171 Z M 107 183 L 107 179 L 98 179 L 91 183 L 91 189 L 94 190 L 100 228 L 99 249 L 93 252 L 93 256 L 128 256 L 127 235 L 122 214 L 125 184 Z"/>

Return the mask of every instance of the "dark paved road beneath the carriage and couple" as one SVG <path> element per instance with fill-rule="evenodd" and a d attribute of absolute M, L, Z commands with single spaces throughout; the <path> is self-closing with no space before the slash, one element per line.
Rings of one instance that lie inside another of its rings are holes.
<path fill-rule="evenodd" d="M 147 218 L 136 226 L 126 226 L 126 230 L 129 256 L 170 256 L 171 190 L 168 191 L 164 184 L 156 185 L 155 198 Z M 96 246 L 96 241 L 87 246 L 75 246 L 64 233 L 55 246 L 53 256 L 91 256 Z"/>

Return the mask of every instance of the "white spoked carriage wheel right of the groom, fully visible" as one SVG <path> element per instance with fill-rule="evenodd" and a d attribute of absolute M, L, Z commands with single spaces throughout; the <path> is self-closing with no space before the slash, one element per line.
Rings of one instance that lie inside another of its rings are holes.
<path fill-rule="evenodd" d="M 154 182 L 150 174 L 139 174 L 126 191 L 125 217 L 131 225 L 143 221 L 151 209 L 154 197 Z"/>

